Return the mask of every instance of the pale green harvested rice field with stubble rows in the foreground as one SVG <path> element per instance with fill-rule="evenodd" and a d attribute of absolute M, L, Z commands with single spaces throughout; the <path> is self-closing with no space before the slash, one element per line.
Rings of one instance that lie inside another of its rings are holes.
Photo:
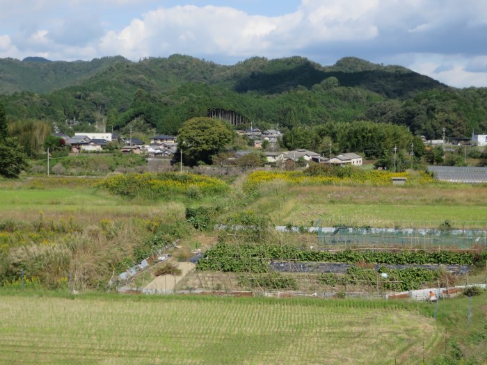
<path fill-rule="evenodd" d="M 417 364 L 442 342 L 403 302 L 2 295 L 1 364 Z"/>

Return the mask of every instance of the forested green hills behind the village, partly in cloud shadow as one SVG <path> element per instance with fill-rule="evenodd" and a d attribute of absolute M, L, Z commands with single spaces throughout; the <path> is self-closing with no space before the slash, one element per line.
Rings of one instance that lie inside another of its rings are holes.
<path fill-rule="evenodd" d="M 302 58 L 249 58 L 218 65 L 191 56 L 121 56 L 63 62 L 0 59 L 8 120 L 55 122 L 73 130 L 175 134 L 191 117 L 228 111 L 262 128 L 381 122 L 413 135 L 487 132 L 487 88 L 457 89 L 405 67 L 342 58 L 324 67 Z M 79 124 L 76 124 L 79 122 Z M 320 135 L 322 133 L 319 133 Z"/>

